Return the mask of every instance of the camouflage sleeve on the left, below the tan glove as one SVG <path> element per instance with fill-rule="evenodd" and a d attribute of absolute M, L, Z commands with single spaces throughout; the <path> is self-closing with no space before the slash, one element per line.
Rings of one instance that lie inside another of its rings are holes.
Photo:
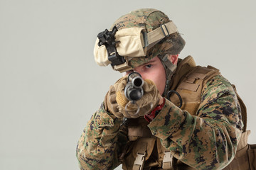
<path fill-rule="evenodd" d="M 122 119 L 102 106 L 92 115 L 82 132 L 76 154 L 80 169 L 114 169 L 120 163 L 118 153 L 126 137 L 120 130 Z"/>

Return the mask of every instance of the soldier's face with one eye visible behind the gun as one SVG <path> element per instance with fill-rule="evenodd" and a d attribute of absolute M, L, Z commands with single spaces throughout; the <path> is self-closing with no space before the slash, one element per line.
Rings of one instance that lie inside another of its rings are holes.
<path fill-rule="evenodd" d="M 134 72 L 138 72 L 142 75 L 142 79 L 150 79 L 156 84 L 156 88 L 160 94 L 164 93 L 164 87 L 166 83 L 166 73 L 163 64 L 159 60 L 159 57 L 154 57 L 149 62 L 135 67 Z M 133 71 L 126 72 L 127 75 Z"/>

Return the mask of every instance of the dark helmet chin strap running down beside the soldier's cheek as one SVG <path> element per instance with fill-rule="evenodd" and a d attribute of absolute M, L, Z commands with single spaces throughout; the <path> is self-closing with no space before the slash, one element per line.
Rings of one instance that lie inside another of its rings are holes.
<path fill-rule="evenodd" d="M 167 96 L 167 93 L 169 91 L 170 88 L 170 82 L 171 82 L 171 77 L 174 75 L 174 72 L 177 68 L 176 64 L 173 64 L 168 57 L 168 54 L 166 55 L 158 55 L 157 57 L 159 57 L 161 63 L 164 66 L 165 72 L 166 72 L 166 84 L 164 87 L 164 93 L 162 94 L 162 96 Z"/>

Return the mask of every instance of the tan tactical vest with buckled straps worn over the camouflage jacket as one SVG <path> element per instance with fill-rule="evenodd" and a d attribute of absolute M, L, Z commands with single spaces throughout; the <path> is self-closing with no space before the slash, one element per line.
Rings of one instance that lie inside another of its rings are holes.
<path fill-rule="evenodd" d="M 215 69 L 214 67 L 196 66 L 196 63 L 191 56 L 188 56 L 179 62 L 176 74 L 172 81 L 174 84 L 171 84 L 171 89 L 176 89 L 178 94 L 181 95 L 183 100 L 181 109 L 188 111 L 191 115 L 196 115 L 201 103 L 203 86 L 206 85 L 211 78 L 219 74 L 220 72 L 218 69 Z M 239 96 L 238 100 L 242 109 L 242 119 L 245 128 L 238 144 L 238 152 L 235 155 L 235 159 L 225 168 L 225 170 L 245 170 L 250 169 L 250 166 L 252 167 L 251 169 L 256 167 L 256 160 L 254 160 L 255 163 L 253 163 L 252 160 L 252 165 L 249 166 L 249 159 L 255 159 L 254 154 L 256 154 L 256 146 L 247 145 L 247 137 L 250 134 L 250 131 L 245 131 L 246 108 Z M 175 94 L 171 95 L 170 101 L 176 106 L 179 106 L 180 104 L 178 96 Z M 161 145 L 159 138 L 151 134 L 147 125 L 148 123 L 144 118 L 129 119 L 127 121 L 126 126 L 128 128 L 129 142 L 127 143 L 127 146 L 124 147 L 124 152 L 120 157 L 123 169 L 193 169 L 191 166 L 183 164 L 175 159 L 171 155 L 171 152 Z M 251 158 L 247 157 L 247 151 L 250 147 L 255 147 L 251 154 L 251 156 L 254 155 L 254 157 Z M 237 164 L 241 164 L 242 166 L 237 166 Z"/>

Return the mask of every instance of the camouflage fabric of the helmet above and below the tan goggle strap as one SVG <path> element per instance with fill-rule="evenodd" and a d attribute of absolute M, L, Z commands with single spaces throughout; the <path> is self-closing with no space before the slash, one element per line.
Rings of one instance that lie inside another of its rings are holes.
<path fill-rule="evenodd" d="M 162 23 L 168 23 L 169 21 L 168 16 L 161 11 L 154 8 L 142 8 L 121 16 L 113 23 L 112 27 L 117 26 L 118 30 L 139 27 L 144 28 L 146 33 L 149 33 L 150 31 L 159 28 Z M 184 45 L 185 40 L 181 38 L 181 35 L 179 33 L 174 33 L 147 50 L 146 56 L 134 57 L 132 60 L 129 60 L 128 64 L 134 68 L 145 62 L 149 62 L 149 60 L 157 55 L 165 55 L 167 53 L 176 55 L 181 52 Z"/>

